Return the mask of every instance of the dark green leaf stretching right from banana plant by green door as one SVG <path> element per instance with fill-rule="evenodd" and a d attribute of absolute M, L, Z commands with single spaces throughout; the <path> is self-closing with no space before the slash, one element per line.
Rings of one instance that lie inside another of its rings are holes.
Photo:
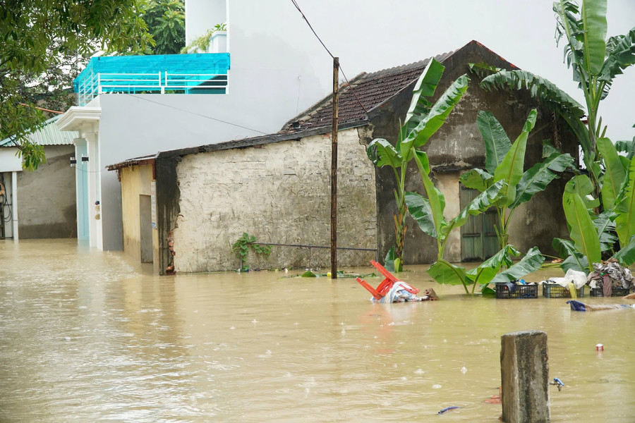
<path fill-rule="evenodd" d="M 574 159 L 571 155 L 555 152 L 545 161 L 535 164 L 523 173 L 516 186 L 516 199 L 509 205 L 509 208 L 515 209 L 520 204 L 531 200 L 536 192 L 544 191 L 552 180 L 560 178 L 554 172 L 562 172 L 573 163 Z"/>

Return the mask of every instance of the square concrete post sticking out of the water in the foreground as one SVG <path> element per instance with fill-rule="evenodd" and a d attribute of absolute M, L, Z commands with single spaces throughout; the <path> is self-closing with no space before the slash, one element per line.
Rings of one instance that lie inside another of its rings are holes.
<path fill-rule="evenodd" d="M 511 332 L 500 340 L 502 421 L 548 423 L 547 333 Z"/>

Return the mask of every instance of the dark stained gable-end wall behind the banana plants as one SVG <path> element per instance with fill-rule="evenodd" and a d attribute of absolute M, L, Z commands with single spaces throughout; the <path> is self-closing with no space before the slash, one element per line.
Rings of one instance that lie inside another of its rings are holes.
<path fill-rule="evenodd" d="M 493 66 L 505 67 L 506 63 L 496 54 L 471 44 L 456 51 L 443 62 L 446 66 L 443 78 L 437 87 L 433 102 L 459 78 L 468 73 L 471 78 L 468 90 L 461 102 L 454 108 L 442 128 L 423 147 L 428 153 L 432 172 L 430 177 L 445 196 L 445 216 L 451 219 L 459 209 L 459 176 L 468 168 L 485 166 L 485 145 L 476 125 L 479 110 L 491 111 L 507 131 L 514 142 L 531 109 L 538 109 L 536 127 L 528 137 L 525 170 L 541 161 L 543 140 L 559 137 L 564 152 L 577 157 L 576 144 L 564 125 L 552 121 L 550 112 L 541 108 L 526 92 L 485 92 L 476 75 L 468 71 L 468 63 L 490 63 Z M 404 90 L 390 104 L 382 106 L 380 111 L 370 116 L 375 127 L 373 137 L 382 137 L 394 144 L 399 133 L 399 118 L 403 119 L 408 110 L 412 88 Z M 368 143 L 370 140 L 366 140 Z M 562 191 L 566 180 L 555 180 L 545 190 L 535 195 L 532 200 L 516 209 L 509 226 L 509 243 L 521 252 L 533 246 L 540 251 L 552 254 L 552 239 L 567 238 L 567 226 L 562 212 Z M 393 214 L 397 207 L 394 202 L 394 175 L 391 169 L 377 170 L 377 221 L 378 239 L 377 254 L 385 257 L 394 244 Z M 416 166 L 411 163 L 406 175 L 406 190 L 425 192 Z M 539 221 L 540 224 L 536 224 Z M 437 258 L 436 242 L 425 235 L 410 217 L 406 218 L 409 227 L 404 245 L 405 264 L 423 264 L 435 262 Z M 528 230 L 529 228 L 529 230 Z M 455 231 L 447 241 L 444 258 L 460 261 L 460 233 Z"/>

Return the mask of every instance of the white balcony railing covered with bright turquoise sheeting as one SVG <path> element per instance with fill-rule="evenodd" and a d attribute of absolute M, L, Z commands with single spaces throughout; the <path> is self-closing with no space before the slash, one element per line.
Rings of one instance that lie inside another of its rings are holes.
<path fill-rule="evenodd" d="M 227 94 L 229 53 L 94 57 L 75 78 L 78 104 L 104 93 Z"/>

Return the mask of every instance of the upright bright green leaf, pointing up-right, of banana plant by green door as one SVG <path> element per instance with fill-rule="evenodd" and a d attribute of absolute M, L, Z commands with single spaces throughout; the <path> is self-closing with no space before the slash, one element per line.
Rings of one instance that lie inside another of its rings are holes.
<path fill-rule="evenodd" d="M 523 166 L 525 164 L 527 137 L 534 125 L 536 125 L 536 116 L 536 109 L 529 112 L 521 134 L 516 138 L 512 148 L 509 149 L 509 152 L 505 154 L 495 169 L 494 180 L 504 180 L 507 183 L 507 188 L 502 192 L 503 196 L 506 197 L 504 204 L 506 206 L 512 204 L 516 198 L 516 185 L 523 175 Z"/>

